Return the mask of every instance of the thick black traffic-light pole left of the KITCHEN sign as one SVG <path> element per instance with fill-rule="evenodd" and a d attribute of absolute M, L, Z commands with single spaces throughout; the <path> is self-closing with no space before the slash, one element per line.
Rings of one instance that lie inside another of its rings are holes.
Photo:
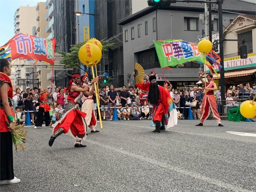
<path fill-rule="evenodd" d="M 219 43 L 220 43 L 220 86 L 221 86 L 221 100 L 225 99 L 225 77 L 224 77 L 224 50 L 223 50 L 223 29 L 222 29 L 222 0 L 217 0 L 218 2 L 218 16 L 219 16 Z M 223 103 L 224 104 L 224 103 Z"/>

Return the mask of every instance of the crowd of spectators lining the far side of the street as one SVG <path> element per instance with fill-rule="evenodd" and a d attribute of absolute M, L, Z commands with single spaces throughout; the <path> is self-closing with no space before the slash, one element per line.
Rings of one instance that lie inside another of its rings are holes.
<path fill-rule="evenodd" d="M 169 83 L 169 82 L 168 82 Z M 170 92 L 170 96 L 173 98 L 178 111 L 178 119 L 188 119 L 189 106 L 192 109 L 194 119 L 200 119 L 201 116 L 201 104 L 204 97 L 204 85 L 193 88 L 174 89 L 169 83 L 164 84 L 167 91 Z M 117 108 L 118 118 L 120 120 L 143 120 L 152 118 L 152 105 L 147 102 L 147 92 L 134 88 L 133 86 L 123 86 L 121 90 L 111 86 L 102 86 L 99 90 L 99 100 L 101 108 L 102 120 L 112 120 L 114 107 Z M 36 119 L 37 110 L 39 108 L 40 90 L 37 87 L 26 87 L 25 91 L 21 91 L 16 88 L 13 93 L 13 107 L 16 111 L 15 119 L 18 122 L 24 122 L 22 118 L 23 114 L 27 115 L 27 110 L 30 112 L 31 123 L 34 124 Z M 234 108 L 234 102 L 241 99 L 241 95 L 247 93 L 249 99 L 252 99 L 256 94 L 255 83 L 246 83 L 246 87 L 240 83 L 237 86 L 230 86 L 226 92 L 225 100 L 229 109 Z M 221 87 L 215 92 L 216 101 L 221 101 Z M 93 95 L 95 112 L 97 108 L 96 95 Z M 81 105 L 84 100 L 81 100 Z M 52 123 L 58 121 L 65 109 L 67 103 L 67 93 L 61 87 L 56 87 L 51 95 L 48 96 L 47 104 L 50 106 L 50 117 Z M 21 113 L 23 112 L 23 113 Z"/>

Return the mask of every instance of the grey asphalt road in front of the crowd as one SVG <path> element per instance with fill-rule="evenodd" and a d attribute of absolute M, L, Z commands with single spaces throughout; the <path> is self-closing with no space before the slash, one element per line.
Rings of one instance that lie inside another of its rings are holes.
<path fill-rule="evenodd" d="M 74 148 L 69 134 L 49 147 L 52 128 L 25 127 L 26 151 L 14 150 L 14 174 L 21 182 L 0 190 L 256 191 L 255 123 L 197 123 L 181 120 L 151 134 L 148 120 L 104 121 L 100 133 L 83 141 L 85 148 Z"/>

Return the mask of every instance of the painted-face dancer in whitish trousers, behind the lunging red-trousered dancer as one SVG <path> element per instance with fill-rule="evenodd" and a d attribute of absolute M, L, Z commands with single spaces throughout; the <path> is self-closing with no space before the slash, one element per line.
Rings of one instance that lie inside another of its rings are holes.
<path fill-rule="evenodd" d="M 89 83 L 89 79 L 87 76 L 82 77 L 82 88 L 86 87 Z M 94 84 L 89 89 L 89 91 L 83 93 L 84 102 L 82 105 L 82 112 L 86 113 L 85 121 L 86 124 L 91 129 L 91 133 L 97 133 L 100 131 L 95 130 L 94 127 L 97 126 L 97 118 L 95 115 L 94 103 L 93 103 L 93 94 L 94 92 Z"/>

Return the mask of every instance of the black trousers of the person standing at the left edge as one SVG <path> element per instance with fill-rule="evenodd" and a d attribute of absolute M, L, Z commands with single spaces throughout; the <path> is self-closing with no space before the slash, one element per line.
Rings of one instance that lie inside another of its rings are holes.
<path fill-rule="evenodd" d="M 1 132 L 0 142 L 0 179 L 13 179 L 13 140 L 11 132 Z"/>

